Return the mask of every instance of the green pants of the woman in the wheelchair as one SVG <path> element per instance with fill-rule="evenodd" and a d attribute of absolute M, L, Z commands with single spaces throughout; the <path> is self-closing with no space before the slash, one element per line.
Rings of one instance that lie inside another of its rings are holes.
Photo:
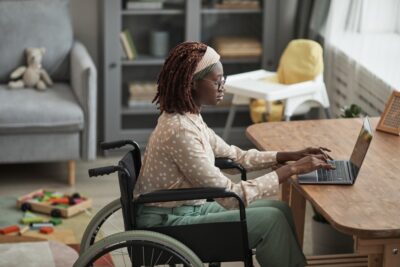
<path fill-rule="evenodd" d="M 282 201 L 258 200 L 246 208 L 249 246 L 262 266 L 303 267 L 306 259 L 296 239 L 289 206 Z M 239 220 L 239 210 L 226 210 L 217 202 L 201 206 L 158 208 L 141 206 L 138 227 L 173 226 Z"/>

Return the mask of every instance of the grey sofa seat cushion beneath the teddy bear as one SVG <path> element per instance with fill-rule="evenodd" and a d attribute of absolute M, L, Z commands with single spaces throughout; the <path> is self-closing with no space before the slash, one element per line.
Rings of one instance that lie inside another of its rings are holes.
<path fill-rule="evenodd" d="M 0 84 L 0 134 L 79 131 L 83 111 L 67 84 L 46 91 Z"/>

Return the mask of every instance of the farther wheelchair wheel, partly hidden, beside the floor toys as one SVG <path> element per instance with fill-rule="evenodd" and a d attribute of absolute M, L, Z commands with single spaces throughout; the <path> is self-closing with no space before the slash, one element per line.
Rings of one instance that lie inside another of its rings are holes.
<path fill-rule="evenodd" d="M 79 253 L 84 253 L 95 242 L 107 236 L 124 231 L 121 201 L 116 199 L 103 207 L 90 220 L 83 233 Z"/>

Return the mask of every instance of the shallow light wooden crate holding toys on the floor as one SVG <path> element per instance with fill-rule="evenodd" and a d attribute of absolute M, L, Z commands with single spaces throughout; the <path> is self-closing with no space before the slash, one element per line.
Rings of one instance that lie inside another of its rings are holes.
<path fill-rule="evenodd" d="M 45 214 L 49 214 L 49 215 L 51 214 L 52 210 L 58 209 L 61 212 L 61 217 L 64 217 L 64 218 L 71 217 L 77 213 L 84 211 L 85 209 L 92 207 L 92 199 L 83 197 L 83 196 L 81 196 L 81 198 L 84 200 L 81 203 L 71 205 L 68 208 L 53 206 L 49 202 L 29 201 L 30 199 L 33 198 L 33 196 L 35 196 L 37 194 L 41 194 L 44 191 L 56 192 L 56 190 L 51 190 L 51 189 L 39 189 L 39 190 L 33 191 L 29 194 L 23 195 L 20 198 L 18 198 L 17 199 L 17 207 L 20 209 L 22 204 L 29 203 L 31 206 L 31 209 L 30 209 L 31 211 L 45 213 Z M 67 195 L 67 194 L 65 194 L 65 196 L 69 197 L 69 195 Z"/>

